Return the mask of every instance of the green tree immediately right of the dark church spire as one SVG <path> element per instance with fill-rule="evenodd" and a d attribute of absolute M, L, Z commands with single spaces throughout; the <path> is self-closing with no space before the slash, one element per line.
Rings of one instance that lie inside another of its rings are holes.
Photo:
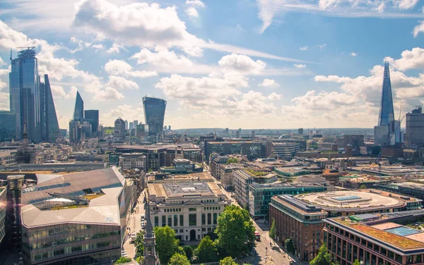
<path fill-rule="evenodd" d="M 179 251 L 179 240 L 175 239 L 175 230 L 169 226 L 156 226 L 154 232 L 160 263 L 167 264 L 170 258 Z"/>

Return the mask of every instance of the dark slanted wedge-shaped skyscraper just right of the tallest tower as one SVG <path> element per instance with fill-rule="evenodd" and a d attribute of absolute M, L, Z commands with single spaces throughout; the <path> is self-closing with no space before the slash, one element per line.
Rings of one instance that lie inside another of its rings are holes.
<path fill-rule="evenodd" d="M 45 82 L 40 83 L 42 94 L 42 140 L 55 142 L 60 137 L 59 122 L 57 121 L 56 109 L 50 87 L 49 76 L 45 75 Z"/>

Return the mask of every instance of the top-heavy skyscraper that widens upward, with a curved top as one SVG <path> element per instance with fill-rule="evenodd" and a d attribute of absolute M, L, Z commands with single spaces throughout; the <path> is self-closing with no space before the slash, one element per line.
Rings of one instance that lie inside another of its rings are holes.
<path fill-rule="evenodd" d="M 143 97 L 144 118 L 148 134 L 161 137 L 165 118 L 166 101 L 155 97 Z"/>

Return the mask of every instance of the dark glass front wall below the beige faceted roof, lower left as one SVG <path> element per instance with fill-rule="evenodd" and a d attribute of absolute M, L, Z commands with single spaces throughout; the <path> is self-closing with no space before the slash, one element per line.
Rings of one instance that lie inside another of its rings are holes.
<path fill-rule="evenodd" d="M 24 259 L 31 264 L 90 264 L 121 256 L 120 226 L 63 223 L 25 228 Z"/>

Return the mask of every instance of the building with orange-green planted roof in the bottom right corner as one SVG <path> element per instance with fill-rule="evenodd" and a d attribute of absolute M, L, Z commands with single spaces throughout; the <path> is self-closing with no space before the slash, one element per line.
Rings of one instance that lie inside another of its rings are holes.
<path fill-rule="evenodd" d="M 423 264 L 423 230 L 405 226 L 423 217 L 424 211 L 418 210 L 326 218 L 324 243 L 336 264 Z"/>

